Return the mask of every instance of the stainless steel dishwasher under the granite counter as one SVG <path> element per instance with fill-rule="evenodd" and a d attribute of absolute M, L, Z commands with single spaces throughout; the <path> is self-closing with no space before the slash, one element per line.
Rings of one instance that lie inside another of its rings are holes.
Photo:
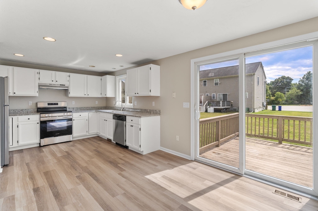
<path fill-rule="evenodd" d="M 113 114 L 113 141 L 124 148 L 126 146 L 126 116 Z"/>

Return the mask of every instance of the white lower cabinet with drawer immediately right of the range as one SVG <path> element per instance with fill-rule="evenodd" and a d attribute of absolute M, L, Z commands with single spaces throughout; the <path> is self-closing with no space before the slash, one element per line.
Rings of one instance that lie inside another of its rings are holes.
<path fill-rule="evenodd" d="M 73 137 L 86 136 L 88 134 L 87 128 L 87 113 L 76 113 L 75 115 L 73 114 Z"/>

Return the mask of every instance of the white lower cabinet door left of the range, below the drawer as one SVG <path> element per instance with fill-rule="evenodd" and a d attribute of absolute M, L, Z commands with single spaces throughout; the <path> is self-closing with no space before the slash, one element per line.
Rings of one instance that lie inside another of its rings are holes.
<path fill-rule="evenodd" d="M 18 145 L 39 143 L 39 122 L 18 123 Z"/>

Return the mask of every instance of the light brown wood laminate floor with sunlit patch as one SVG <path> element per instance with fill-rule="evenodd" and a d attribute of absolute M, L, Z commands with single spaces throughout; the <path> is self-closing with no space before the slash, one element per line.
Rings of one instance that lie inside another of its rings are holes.
<path fill-rule="evenodd" d="M 317 210 L 273 187 L 158 150 L 100 137 L 10 152 L 0 210 Z"/>

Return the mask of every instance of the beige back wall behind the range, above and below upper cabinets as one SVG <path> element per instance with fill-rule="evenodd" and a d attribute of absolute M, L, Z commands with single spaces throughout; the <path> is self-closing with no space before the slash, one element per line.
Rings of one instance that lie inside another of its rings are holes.
<path fill-rule="evenodd" d="M 82 70 L 73 70 L 59 67 L 48 67 L 42 65 L 33 65 L 26 64 L 14 61 L 1 61 L 0 65 L 14 66 L 14 67 L 25 67 L 25 68 L 33 68 L 40 70 L 52 70 L 59 72 L 67 72 L 67 73 L 77 73 L 77 74 L 85 74 L 85 75 L 97 75 L 103 76 L 104 73 L 95 73 L 90 71 L 82 71 Z M 28 102 L 31 101 L 32 105 L 28 105 Z M 105 98 L 91 98 L 91 97 L 66 97 L 66 90 L 50 90 L 50 89 L 39 89 L 38 97 L 30 97 L 30 96 L 9 96 L 9 104 L 10 109 L 29 109 L 29 108 L 37 108 L 37 102 L 50 102 L 50 101 L 66 101 L 67 107 L 90 107 L 90 106 L 105 106 L 106 100 Z M 75 104 L 72 105 L 72 101 L 75 101 Z M 98 101 L 98 104 L 96 104 Z"/>

